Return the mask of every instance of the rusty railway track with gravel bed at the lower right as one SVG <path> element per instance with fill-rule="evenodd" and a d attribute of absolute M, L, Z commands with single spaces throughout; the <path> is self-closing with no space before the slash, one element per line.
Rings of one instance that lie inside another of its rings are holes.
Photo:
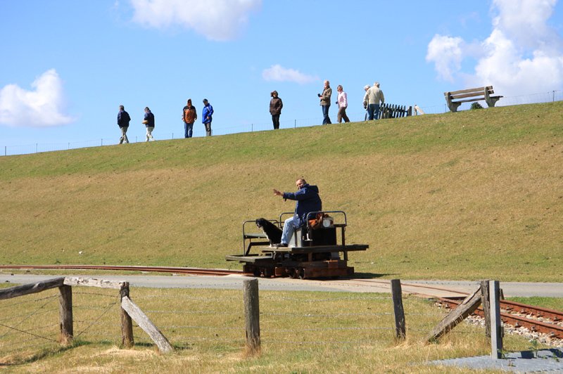
<path fill-rule="evenodd" d="M 461 303 L 458 300 L 443 297 L 438 300 L 450 308 L 455 308 Z M 537 333 L 563 339 L 563 312 L 509 300 L 500 300 L 500 310 L 500 318 L 504 323 L 510 323 L 515 328 L 525 327 Z M 479 307 L 474 314 L 483 317 L 483 308 Z"/>

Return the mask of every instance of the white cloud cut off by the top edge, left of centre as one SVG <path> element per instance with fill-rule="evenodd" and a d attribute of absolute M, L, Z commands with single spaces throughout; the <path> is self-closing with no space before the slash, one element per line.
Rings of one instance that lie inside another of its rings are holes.
<path fill-rule="evenodd" d="M 181 25 L 211 40 L 235 39 L 262 0 L 131 0 L 133 20 L 158 29 Z"/>

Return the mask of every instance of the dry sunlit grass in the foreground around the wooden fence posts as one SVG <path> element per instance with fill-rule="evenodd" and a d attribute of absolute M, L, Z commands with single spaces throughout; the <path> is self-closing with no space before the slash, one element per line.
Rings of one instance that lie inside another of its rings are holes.
<path fill-rule="evenodd" d="M 11 332 L 0 338 L 1 365 L 15 372 L 51 373 L 65 373 L 71 368 L 136 373 L 430 373 L 426 361 L 486 355 L 490 349 L 483 329 L 465 323 L 437 344 L 427 344 L 426 335 L 445 311 L 417 297 L 403 299 L 407 340 L 399 342 L 394 337 L 389 295 L 260 291 L 261 353 L 246 356 L 241 290 L 146 288 L 132 289 L 131 298 L 172 343 L 175 352 L 160 354 L 137 327 L 136 346 L 122 349 L 119 310 L 114 306 L 117 293 L 73 288 L 75 342 L 69 347 L 39 342 L 39 347 L 18 348 L 15 344 L 25 339 L 25 334 Z M 56 295 L 57 290 L 51 290 L 3 300 L 0 307 L 3 316 L 14 324 L 38 310 L 44 302 L 37 299 L 54 297 L 51 307 L 56 307 Z M 33 307 L 25 307 L 22 314 L 21 302 Z M 25 330 L 57 322 L 57 312 L 53 311 L 42 318 L 25 318 L 19 326 Z M 0 330 L 0 336 L 5 334 L 5 328 Z M 42 334 L 56 339 L 56 331 Z M 507 349 L 528 347 L 529 342 L 521 337 L 505 337 Z"/>

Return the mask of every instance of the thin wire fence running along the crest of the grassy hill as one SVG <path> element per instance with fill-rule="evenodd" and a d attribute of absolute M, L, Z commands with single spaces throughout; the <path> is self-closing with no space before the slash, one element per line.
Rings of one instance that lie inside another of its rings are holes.
<path fill-rule="evenodd" d="M 503 97 L 496 106 L 509 106 L 509 105 L 521 105 L 521 104 L 533 104 L 533 103 L 550 103 L 555 101 L 563 101 L 563 91 L 562 90 L 552 90 L 541 93 L 531 93 L 519 96 L 505 96 Z M 403 103 L 404 104 L 404 103 Z M 412 105 L 414 108 L 415 103 L 407 104 L 407 107 Z M 448 105 L 443 104 L 418 104 L 419 108 L 422 108 L 426 114 L 438 114 L 448 112 Z M 458 111 L 469 110 L 470 105 L 468 103 L 463 103 Z M 348 117 L 353 122 L 361 122 L 365 120 L 365 111 L 349 112 Z M 281 120 L 280 128 L 289 129 L 297 127 L 311 127 L 320 125 L 320 117 L 315 118 L 301 118 L 295 120 Z M 267 131 L 272 129 L 272 122 L 256 122 L 251 124 L 236 125 L 232 127 L 222 127 L 221 129 L 213 129 L 213 135 L 226 135 L 226 134 L 237 134 L 253 131 Z M 182 138 L 183 133 L 169 133 L 161 134 L 159 139 L 161 140 L 171 140 L 176 138 Z M 202 133 L 203 136 L 203 133 Z M 131 136 L 129 139 L 132 143 L 139 143 L 145 141 L 144 136 L 135 136 L 134 141 Z M 4 146 L 3 152 L 0 152 L 0 156 L 8 155 L 25 155 L 30 153 L 42 153 L 42 152 L 52 152 L 57 150 L 70 150 L 77 148 L 89 148 L 89 147 L 99 147 L 99 146 L 114 146 L 118 144 L 118 136 L 112 138 L 99 138 L 91 139 L 87 141 L 77 141 L 77 142 L 66 142 L 66 143 L 32 143 L 24 144 L 20 146 Z"/>

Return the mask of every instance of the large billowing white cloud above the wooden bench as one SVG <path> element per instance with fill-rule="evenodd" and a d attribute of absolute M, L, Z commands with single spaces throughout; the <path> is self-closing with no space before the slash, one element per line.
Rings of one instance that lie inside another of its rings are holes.
<path fill-rule="evenodd" d="M 548 20 L 556 0 L 494 0 L 493 30 L 481 41 L 466 44 L 459 37 L 436 35 L 426 60 L 438 77 L 467 86 L 492 84 L 503 96 L 518 96 L 563 88 L 563 38 Z M 461 71 L 462 60 L 477 56 L 474 72 Z"/>

